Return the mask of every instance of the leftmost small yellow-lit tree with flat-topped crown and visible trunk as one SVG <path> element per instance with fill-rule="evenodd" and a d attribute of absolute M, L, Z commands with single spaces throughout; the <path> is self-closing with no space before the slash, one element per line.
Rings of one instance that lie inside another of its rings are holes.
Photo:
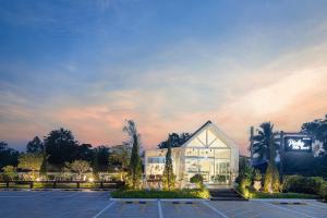
<path fill-rule="evenodd" d="M 32 180 L 35 180 L 35 171 L 39 171 L 44 161 L 43 154 L 27 153 L 19 158 L 19 168 L 32 170 Z"/>

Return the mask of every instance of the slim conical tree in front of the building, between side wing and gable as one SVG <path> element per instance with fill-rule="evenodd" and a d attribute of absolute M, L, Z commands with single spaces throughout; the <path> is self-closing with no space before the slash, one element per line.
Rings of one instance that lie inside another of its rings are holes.
<path fill-rule="evenodd" d="M 168 137 L 168 150 L 166 154 L 166 164 L 162 175 L 164 187 L 170 190 L 174 187 L 175 175 L 173 174 L 172 159 L 171 159 L 171 136 Z"/>

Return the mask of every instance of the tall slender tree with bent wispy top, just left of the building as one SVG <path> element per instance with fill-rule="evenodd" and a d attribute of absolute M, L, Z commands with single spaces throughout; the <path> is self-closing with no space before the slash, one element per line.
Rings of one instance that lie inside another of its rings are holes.
<path fill-rule="evenodd" d="M 129 178 L 132 187 L 135 190 L 140 185 L 142 177 L 142 161 L 140 157 L 140 134 L 137 133 L 136 125 L 133 120 L 128 120 L 123 131 L 130 136 L 130 142 L 133 144 L 132 154 L 129 166 Z"/>

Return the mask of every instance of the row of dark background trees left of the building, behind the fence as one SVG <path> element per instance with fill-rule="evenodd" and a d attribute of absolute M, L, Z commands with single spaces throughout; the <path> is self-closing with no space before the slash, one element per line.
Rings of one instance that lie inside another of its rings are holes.
<path fill-rule="evenodd" d="M 66 162 L 74 160 L 86 160 L 90 162 L 94 170 L 107 171 L 110 160 L 116 169 L 123 167 L 121 155 L 117 152 L 119 146 L 116 148 L 114 152 L 110 152 L 107 146 L 93 147 L 90 144 L 80 144 L 70 130 L 61 128 L 51 131 L 43 140 L 35 136 L 27 143 L 24 153 L 43 154 L 49 171 L 59 171 Z M 4 166 L 17 167 L 21 154 L 10 148 L 5 142 L 0 142 L 0 169 Z"/>

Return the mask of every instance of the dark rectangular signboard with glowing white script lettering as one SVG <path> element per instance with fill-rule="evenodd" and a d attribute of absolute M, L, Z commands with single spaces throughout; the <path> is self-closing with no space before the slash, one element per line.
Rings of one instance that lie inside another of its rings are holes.
<path fill-rule="evenodd" d="M 312 138 L 307 136 L 286 136 L 284 137 L 286 152 L 312 152 Z"/>

